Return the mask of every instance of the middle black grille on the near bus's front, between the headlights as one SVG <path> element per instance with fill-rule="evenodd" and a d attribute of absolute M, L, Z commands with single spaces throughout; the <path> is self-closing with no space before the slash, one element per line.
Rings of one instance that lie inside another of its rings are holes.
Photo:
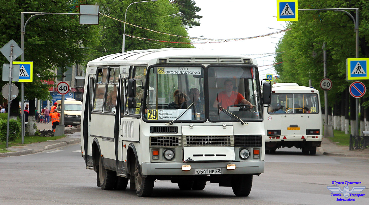
<path fill-rule="evenodd" d="M 234 146 L 231 136 L 183 136 L 183 145 L 190 146 Z"/>

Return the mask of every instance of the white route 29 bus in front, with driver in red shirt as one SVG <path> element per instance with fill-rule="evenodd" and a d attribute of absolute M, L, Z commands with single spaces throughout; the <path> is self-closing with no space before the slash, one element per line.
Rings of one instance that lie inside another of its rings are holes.
<path fill-rule="evenodd" d="M 221 98 L 226 81 L 231 105 Z M 101 189 L 126 189 L 129 180 L 138 196 L 150 196 L 156 179 L 182 190 L 210 181 L 248 196 L 253 175 L 264 171 L 265 84 L 262 100 L 256 61 L 213 50 L 135 50 L 90 61 L 81 120 L 86 168 Z"/>

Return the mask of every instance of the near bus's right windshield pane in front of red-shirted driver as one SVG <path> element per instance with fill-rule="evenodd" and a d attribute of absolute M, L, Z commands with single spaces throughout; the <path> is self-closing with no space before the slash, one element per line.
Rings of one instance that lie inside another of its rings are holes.
<path fill-rule="evenodd" d="M 261 119 L 255 76 L 254 67 L 209 67 L 209 120 Z"/>

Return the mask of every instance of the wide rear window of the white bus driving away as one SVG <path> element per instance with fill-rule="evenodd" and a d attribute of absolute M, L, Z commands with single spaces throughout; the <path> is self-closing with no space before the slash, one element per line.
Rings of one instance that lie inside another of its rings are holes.
<path fill-rule="evenodd" d="M 317 114 L 319 113 L 317 94 L 272 94 L 269 114 Z"/>

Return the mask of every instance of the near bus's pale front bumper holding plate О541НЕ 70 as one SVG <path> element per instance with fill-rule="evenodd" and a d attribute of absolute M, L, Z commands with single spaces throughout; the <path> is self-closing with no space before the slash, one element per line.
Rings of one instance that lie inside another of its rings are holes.
<path fill-rule="evenodd" d="M 227 170 L 228 164 L 236 165 L 233 170 Z M 143 175 L 196 175 L 196 169 L 221 168 L 221 174 L 261 174 L 264 172 L 265 161 L 244 161 L 244 162 L 165 162 L 152 163 L 142 162 L 141 170 Z M 191 165 L 191 170 L 182 171 L 182 165 Z"/>

